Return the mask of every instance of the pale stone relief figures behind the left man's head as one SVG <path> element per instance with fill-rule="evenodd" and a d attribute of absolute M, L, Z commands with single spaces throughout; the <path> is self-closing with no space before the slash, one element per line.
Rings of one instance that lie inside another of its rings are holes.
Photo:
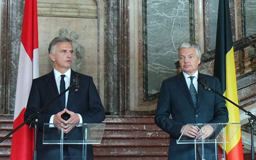
<path fill-rule="evenodd" d="M 82 63 L 84 61 L 84 53 L 85 53 L 84 46 L 77 43 L 77 40 L 79 39 L 79 35 L 75 31 L 72 31 L 68 37 L 67 29 L 61 28 L 59 30 L 59 36 L 67 37 L 72 41 L 74 53 L 73 53 L 71 69 L 76 72 L 79 72 L 82 67 Z"/>

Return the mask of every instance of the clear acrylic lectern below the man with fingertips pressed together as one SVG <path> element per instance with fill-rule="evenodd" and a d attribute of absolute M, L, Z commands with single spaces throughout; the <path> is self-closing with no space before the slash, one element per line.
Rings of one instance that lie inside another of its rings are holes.
<path fill-rule="evenodd" d="M 63 129 L 58 130 L 56 125 L 76 125 L 69 133 L 64 133 Z M 100 144 L 104 133 L 103 123 L 44 123 L 43 144 L 59 144 L 60 160 L 65 160 L 63 147 L 65 144 L 82 145 L 83 154 L 80 156 L 70 156 L 70 159 L 86 160 L 87 144 Z"/>

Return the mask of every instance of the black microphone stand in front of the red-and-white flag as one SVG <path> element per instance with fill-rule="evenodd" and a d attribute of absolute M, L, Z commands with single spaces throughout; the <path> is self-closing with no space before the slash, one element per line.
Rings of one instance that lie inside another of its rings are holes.
<path fill-rule="evenodd" d="M 73 85 L 67 87 L 66 90 L 64 90 L 61 94 L 59 94 L 57 97 L 55 97 L 53 100 L 51 100 L 51 102 L 47 103 L 44 107 L 42 107 L 39 110 L 37 110 L 30 117 L 27 117 L 27 120 L 25 120 L 22 124 L 20 124 L 20 126 L 18 126 L 13 131 L 11 131 L 9 134 L 7 134 L 7 136 L 3 137 L 3 139 L 0 140 L 0 143 L 2 143 L 4 140 L 6 140 L 8 137 L 10 137 L 10 135 L 12 135 L 14 132 L 19 130 L 22 126 L 24 126 L 24 124 L 30 122 L 30 126 L 29 126 L 29 129 L 30 129 L 32 123 L 34 123 L 35 127 L 34 127 L 34 152 L 33 152 L 33 160 L 36 160 L 37 159 L 36 140 L 37 140 L 37 122 L 38 122 L 37 115 L 39 113 L 41 113 L 43 110 L 45 110 L 51 103 L 53 103 L 55 100 L 57 100 L 59 97 L 61 97 L 68 90 L 71 90 L 74 87 L 74 85 L 76 85 L 76 84 L 73 84 Z"/>

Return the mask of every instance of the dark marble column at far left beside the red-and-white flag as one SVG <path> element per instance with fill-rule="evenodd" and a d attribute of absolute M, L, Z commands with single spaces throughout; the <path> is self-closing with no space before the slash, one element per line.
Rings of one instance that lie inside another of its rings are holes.
<path fill-rule="evenodd" d="M 24 0 L 2 1 L 0 114 L 13 114 Z"/>

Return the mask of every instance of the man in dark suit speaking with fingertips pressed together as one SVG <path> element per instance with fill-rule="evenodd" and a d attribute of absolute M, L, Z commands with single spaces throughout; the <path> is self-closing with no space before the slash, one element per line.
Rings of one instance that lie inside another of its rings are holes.
<path fill-rule="evenodd" d="M 105 119 L 104 107 L 92 77 L 71 70 L 73 47 L 67 38 L 56 37 L 49 45 L 49 55 L 54 62 L 54 70 L 33 80 L 27 108 L 24 113 L 26 120 L 35 111 L 44 107 L 57 97 L 62 90 L 73 85 L 74 75 L 80 77 L 79 90 L 71 89 L 63 97 L 55 100 L 44 111 L 38 114 L 37 160 L 60 159 L 60 145 L 43 144 L 44 123 L 101 123 Z M 62 115 L 69 119 L 63 119 Z M 63 128 L 67 140 L 82 137 L 82 127 L 75 125 L 51 126 L 51 130 Z M 52 134 L 52 136 L 58 136 Z M 82 145 L 64 145 L 64 156 L 82 156 Z M 79 158 L 78 158 L 79 159 Z M 76 158 L 76 160 L 78 160 Z M 71 158 L 72 160 L 72 158 Z M 92 145 L 87 145 L 87 160 L 93 160 Z"/>

